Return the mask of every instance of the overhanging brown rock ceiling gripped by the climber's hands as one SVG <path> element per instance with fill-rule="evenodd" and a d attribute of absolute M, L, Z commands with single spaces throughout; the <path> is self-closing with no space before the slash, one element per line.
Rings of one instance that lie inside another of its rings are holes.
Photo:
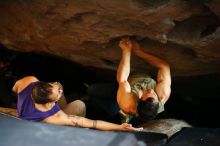
<path fill-rule="evenodd" d="M 0 43 L 116 70 L 121 36 L 171 64 L 173 76 L 220 73 L 220 1 L 1 0 Z M 133 70 L 147 64 L 132 57 Z"/>

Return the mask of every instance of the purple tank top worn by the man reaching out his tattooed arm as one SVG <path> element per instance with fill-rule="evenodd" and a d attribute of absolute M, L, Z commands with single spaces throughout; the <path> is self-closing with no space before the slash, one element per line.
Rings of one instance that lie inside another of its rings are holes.
<path fill-rule="evenodd" d="M 18 116 L 21 119 L 41 121 L 49 116 L 54 115 L 60 110 L 57 103 L 55 103 L 52 109 L 46 112 L 39 111 L 35 108 L 31 98 L 31 91 L 35 83 L 36 82 L 29 84 L 20 93 L 18 93 L 17 111 Z"/>

